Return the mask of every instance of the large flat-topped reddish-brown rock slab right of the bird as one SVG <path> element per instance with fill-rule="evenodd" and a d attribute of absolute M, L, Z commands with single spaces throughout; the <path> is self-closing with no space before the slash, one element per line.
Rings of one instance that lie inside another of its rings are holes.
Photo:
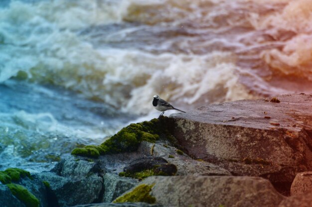
<path fill-rule="evenodd" d="M 170 116 L 183 151 L 229 170 L 287 183 L 312 169 L 312 96 L 212 104 Z"/>

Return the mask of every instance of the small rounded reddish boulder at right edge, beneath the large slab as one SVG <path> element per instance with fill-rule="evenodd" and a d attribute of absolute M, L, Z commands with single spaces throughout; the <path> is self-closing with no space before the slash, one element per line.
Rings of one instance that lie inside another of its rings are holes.
<path fill-rule="evenodd" d="M 291 196 L 312 193 L 312 172 L 298 173 L 291 187 Z"/>

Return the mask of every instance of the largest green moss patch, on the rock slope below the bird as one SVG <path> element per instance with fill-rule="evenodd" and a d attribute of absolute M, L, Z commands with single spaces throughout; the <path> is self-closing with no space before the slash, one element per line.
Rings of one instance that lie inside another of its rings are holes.
<path fill-rule="evenodd" d="M 141 123 L 132 123 L 99 146 L 75 148 L 72 155 L 97 158 L 99 155 L 136 151 L 142 141 L 155 143 L 160 137 L 172 136 L 163 127 L 166 118 L 152 119 Z"/>

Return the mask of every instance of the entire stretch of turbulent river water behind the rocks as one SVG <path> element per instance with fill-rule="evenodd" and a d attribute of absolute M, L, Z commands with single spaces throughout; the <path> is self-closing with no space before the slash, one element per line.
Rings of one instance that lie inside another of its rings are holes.
<path fill-rule="evenodd" d="M 311 22 L 311 0 L 2 0 L 0 169 L 49 169 L 156 117 L 156 94 L 311 93 Z"/>

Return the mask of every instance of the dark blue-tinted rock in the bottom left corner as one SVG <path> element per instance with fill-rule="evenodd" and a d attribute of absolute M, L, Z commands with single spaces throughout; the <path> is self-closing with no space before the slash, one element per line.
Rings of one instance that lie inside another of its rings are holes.
<path fill-rule="evenodd" d="M 9 188 L 0 183 L 0 207 L 25 207 L 25 205 L 12 195 Z"/>

